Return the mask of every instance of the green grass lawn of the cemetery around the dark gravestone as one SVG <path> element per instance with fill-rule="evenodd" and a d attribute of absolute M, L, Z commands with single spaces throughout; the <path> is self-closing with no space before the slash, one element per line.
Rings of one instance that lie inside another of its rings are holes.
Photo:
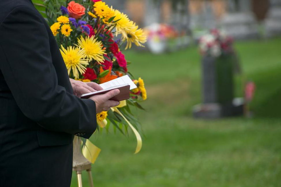
<path fill-rule="evenodd" d="M 95 186 L 281 186 L 281 38 L 235 48 L 243 69 L 237 80 L 256 83 L 253 119 L 192 118 L 192 106 L 201 102 L 196 47 L 163 55 L 126 52 L 130 71 L 148 92 L 147 112 L 138 112 L 143 149 L 133 154 L 132 134 L 94 134 L 91 141 L 102 149 L 93 165 Z M 88 186 L 86 173 L 83 182 Z M 77 186 L 75 173 L 71 186 Z"/>

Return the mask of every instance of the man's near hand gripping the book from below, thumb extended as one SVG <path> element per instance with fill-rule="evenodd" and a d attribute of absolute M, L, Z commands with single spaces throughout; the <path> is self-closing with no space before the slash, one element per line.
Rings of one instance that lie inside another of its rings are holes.
<path fill-rule="evenodd" d="M 109 100 L 119 93 L 119 89 L 115 89 L 101 95 L 92 96 L 89 99 L 95 102 L 96 113 L 100 113 L 102 111 L 108 111 L 111 107 L 118 106 L 120 104 L 118 101 Z"/>

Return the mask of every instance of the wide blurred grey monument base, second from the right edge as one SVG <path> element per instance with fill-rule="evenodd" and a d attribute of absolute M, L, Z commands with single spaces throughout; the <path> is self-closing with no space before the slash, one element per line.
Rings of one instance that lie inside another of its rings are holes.
<path fill-rule="evenodd" d="M 258 37 L 258 25 L 252 13 L 250 0 L 228 0 L 228 13 L 222 18 L 222 27 L 235 39 Z"/>

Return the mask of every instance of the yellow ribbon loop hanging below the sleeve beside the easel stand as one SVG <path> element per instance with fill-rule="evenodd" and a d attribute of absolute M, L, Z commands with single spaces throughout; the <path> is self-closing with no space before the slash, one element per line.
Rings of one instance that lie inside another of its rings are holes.
<path fill-rule="evenodd" d="M 86 144 L 83 147 L 82 154 L 91 163 L 95 163 L 100 154 L 101 149 L 92 144 L 89 140 L 86 140 Z"/>

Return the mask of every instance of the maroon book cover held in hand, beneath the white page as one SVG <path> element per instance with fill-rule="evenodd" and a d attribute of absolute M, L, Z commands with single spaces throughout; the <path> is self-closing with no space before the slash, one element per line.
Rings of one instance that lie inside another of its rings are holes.
<path fill-rule="evenodd" d="M 104 93 L 107 93 L 108 91 L 111 91 L 111 90 L 114 90 L 114 89 L 119 89 L 120 93 L 117 96 L 114 96 L 113 98 L 111 98 L 110 100 L 123 101 L 123 100 L 127 100 L 127 99 L 130 98 L 130 85 L 124 84 L 124 85 L 119 85 L 119 86 L 114 86 L 114 87 L 110 87 L 110 88 L 107 88 L 107 89 L 103 89 L 103 90 L 100 90 L 100 91 L 95 91 L 95 92 L 83 94 L 81 96 L 81 99 L 88 99 L 91 96 L 104 94 Z"/>

